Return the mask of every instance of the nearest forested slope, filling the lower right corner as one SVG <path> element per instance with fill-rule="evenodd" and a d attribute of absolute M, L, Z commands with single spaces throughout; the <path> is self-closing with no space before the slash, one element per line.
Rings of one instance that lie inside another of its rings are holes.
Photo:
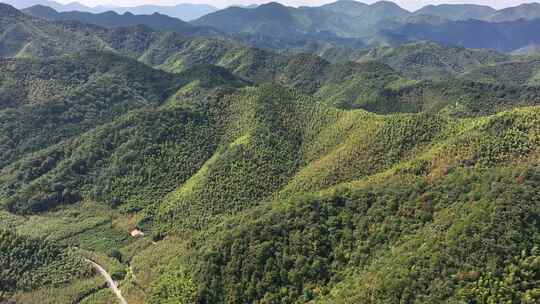
<path fill-rule="evenodd" d="M 431 140 L 411 138 L 409 159 L 230 217 L 172 265 L 191 267 L 208 303 L 446 302 L 482 292 L 534 303 L 539 119 L 524 108 L 417 126 Z M 390 138 L 386 155 L 399 141 Z M 327 170 L 339 176 L 340 161 L 325 160 Z"/>

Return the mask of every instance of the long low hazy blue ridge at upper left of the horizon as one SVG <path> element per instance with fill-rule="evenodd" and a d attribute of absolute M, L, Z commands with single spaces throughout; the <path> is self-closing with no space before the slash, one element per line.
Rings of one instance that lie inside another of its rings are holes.
<path fill-rule="evenodd" d="M 95 24 L 103 27 L 128 27 L 134 25 L 145 25 L 157 31 L 173 31 L 188 36 L 217 35 L 217 30 L 208 27 L 196 27 L 177 18 L 172 18 L 159 13 L 152 15 L 133 15 L 124 13 L 119 15 L 113 11 L 100 14 L 87 12 L 57 12 L 46 6 L 32 6 L 24 9 L 23 12 L 42 17 L 52 21 L 78 21 L 81 23 Z"/>

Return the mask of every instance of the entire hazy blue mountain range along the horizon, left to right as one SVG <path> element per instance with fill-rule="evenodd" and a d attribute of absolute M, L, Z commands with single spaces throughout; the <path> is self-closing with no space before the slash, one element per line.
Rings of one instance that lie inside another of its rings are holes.
<path fill-rule="evenodd" d="M 255 8 L 230 7 L 191 23 L 159 13 L 57 12 L 45 6 L 33 6 L 24 12 L 48 20 L 78 21 L 105 27 L 145 25 L 154 30 L 188 36 L 228 35 L 238 41 L 270 49 L 306 50 L 310 44 L 318 45 L 316 48 L 319 49 L 328 46 L 358 48 L 433 41 L 448 46 L 511 53 L 534 50 L 534 46 L 540 43 L 540 37 L 536 35 L 540 30 L 540 19 L 534 18 L 537 16 L 534 8 L 540 5 L 526 7 L 497 11 L 493 18 L 483 18 L 497 22 L 467 19 L 460 13 L 491 11 L 485 7 L 473 6 L 471 9 L 467 5 L 446 5 L 426 7 L 419 14 L 412 14 L 392 2 L 366 5 L 349 0 L 321 7 L 294 8 L 279 3 Z M 430 12 L 433 15 L 427 15 Z M 447 18 L 442 12 L 454 18 Z"/>

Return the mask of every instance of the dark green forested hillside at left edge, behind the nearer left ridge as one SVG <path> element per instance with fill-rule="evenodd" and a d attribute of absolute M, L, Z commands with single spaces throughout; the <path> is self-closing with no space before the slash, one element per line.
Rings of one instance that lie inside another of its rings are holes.
<path fill-rule="evenodd" d="M 0 168 L 119 114 L 159 104 L 189 82 L 110 53 L 2 61 Z"/>

